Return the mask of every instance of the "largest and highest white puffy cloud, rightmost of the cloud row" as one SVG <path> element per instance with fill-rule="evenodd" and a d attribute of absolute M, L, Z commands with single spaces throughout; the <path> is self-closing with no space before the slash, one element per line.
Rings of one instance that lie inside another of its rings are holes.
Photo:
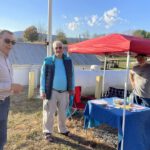
<path fill-rule="evenodd" d="M 119 10 L 117 8 L 113 8 L 104 12 L 103 21 L 106 28 L 110 28 L 119 20 L 118 14 Z"/>

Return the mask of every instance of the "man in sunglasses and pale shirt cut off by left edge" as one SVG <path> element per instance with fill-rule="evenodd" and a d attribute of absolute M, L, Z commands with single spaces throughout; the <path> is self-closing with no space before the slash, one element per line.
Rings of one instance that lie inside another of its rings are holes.
<path fill-rule="evenodd" d="M 10 95 L 22 91 L 22 86 L 13 83 L 12 66 L 8 55 L 15 44 L 13 33 L 0 31 L 0 150 L 7 141 L 7 118 L 10 105 Z"/>

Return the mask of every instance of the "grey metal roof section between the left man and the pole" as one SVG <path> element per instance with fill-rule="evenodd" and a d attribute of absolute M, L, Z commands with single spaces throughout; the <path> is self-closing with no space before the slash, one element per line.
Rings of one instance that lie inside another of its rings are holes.
<path fill-rule="evenodd" d="M 41 64 L 46 56 L 46 47 L 41 44 L 17 43 L 9 56 L 12 64 Z"/>

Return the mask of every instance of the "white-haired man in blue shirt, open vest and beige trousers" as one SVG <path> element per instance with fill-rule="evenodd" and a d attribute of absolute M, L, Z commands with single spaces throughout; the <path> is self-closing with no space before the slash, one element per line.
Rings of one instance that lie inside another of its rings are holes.
<path fill-rule="evenodd" d="M 41 68 L 40 95 L 43 99 L 43 133 L 45 139 L 53 141 L 54 114 L 58 110 L 58 132 L 69 136 L 67 130 L 66 109 L 69 105 L 69 94 L 74 94 L 74 69 L 63 43 L 54 41 L 54 55 L 45 58 Z"/>

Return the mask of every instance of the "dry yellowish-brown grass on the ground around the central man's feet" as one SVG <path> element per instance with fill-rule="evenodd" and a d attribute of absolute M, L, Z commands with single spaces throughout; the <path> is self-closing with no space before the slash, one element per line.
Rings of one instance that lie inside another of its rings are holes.
<path fill-rule="evenodd" d="M 83 130 L 83 120 L 74 117 L 67 121 L 67 127 L 73 134 L 71 138 L 57 132 L 54 124 L 54 143 L 47 143 L 42 134 L 42 100 L 27 99 L 24 93 L 11 97 L 8 122 L 8 142 L 5 150 L 115 150 L 111 143 L 93 136 L 93 129 L 87 134 Z"/>

